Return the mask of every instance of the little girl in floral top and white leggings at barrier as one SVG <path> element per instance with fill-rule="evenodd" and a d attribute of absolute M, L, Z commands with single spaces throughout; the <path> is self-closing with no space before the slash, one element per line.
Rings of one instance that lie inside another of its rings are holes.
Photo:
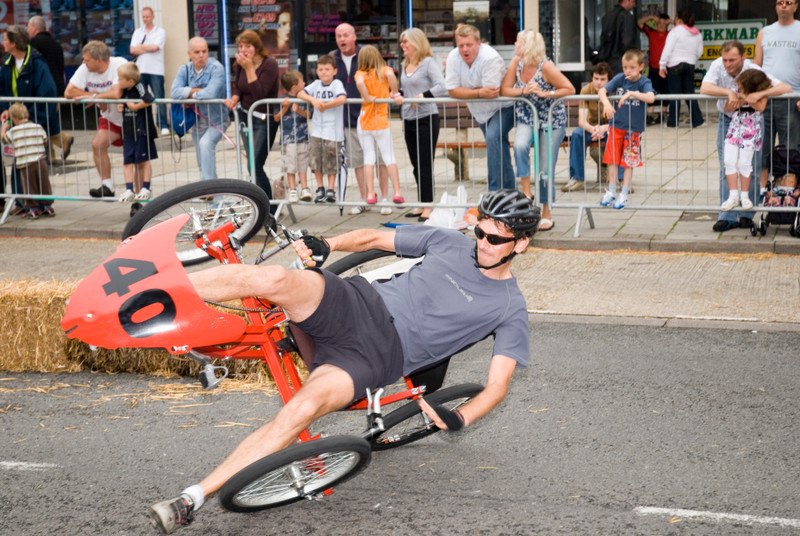
<path fill-rule="evenodd" d="M 753 208 L 748 191 L 750 176 L 753 173 L 753 155 L 761 150 L 761 119 L 767 106 L 767 98 L 762 97 L 755 102 L 749 102 L 752 99 L 747 97 L 769 89 L 772 83 L 762 71 L 748 69 L 736 77 L 736 86 L 742 105 L 733 112 L 728 133 L 725 135 L 725 178 L 731 193 L 720 207 L 723 211 L 733 210 L 740 203 L 744 210 Z"/>

